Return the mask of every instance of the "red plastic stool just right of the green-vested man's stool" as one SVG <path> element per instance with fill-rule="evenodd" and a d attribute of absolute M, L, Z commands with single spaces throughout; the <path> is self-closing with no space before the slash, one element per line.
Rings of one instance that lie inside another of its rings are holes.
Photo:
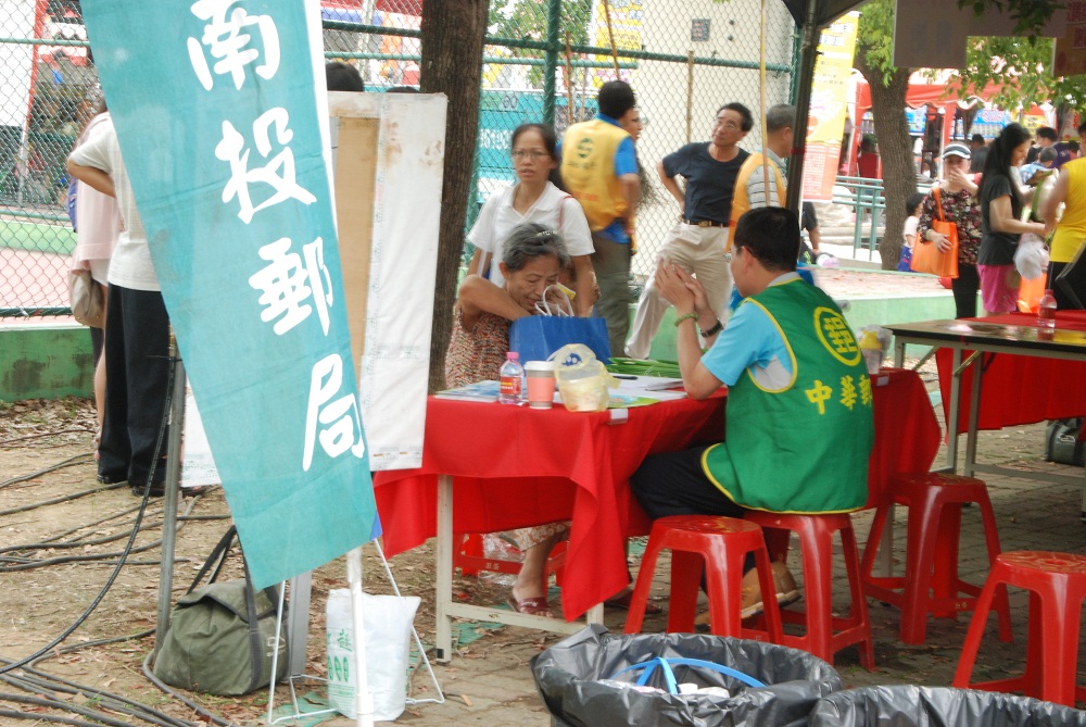
<path fill-rule="evenodd" d="M 981 511 L 990 567 L 999 554 L 999 532 L 988 488 L 983 481 L 934 472 L 910 473 L 894 475 L 883 492 L 863 549 L 863 592 L 901 610 L 900 638 L 905 643 L 924 642 L 927 614 L 957 618 L 959 611 L 976 606 L 981 587 L 958 575 L 961 507 L 967 502 L 975 502 Z M 879 541 L 895 504 L 909 507 L 905 575 L 875 576 Z M 999 636 L 1010 641 L 1011 617 L 1006 593 L 996 602 L 996 612 Z"/>

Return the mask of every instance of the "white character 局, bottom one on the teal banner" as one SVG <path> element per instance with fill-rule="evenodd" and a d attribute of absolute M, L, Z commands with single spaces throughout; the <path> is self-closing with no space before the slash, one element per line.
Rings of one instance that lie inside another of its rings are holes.
<path fill-rule="evenodd" d="M 313 464 L 317 443 L 332 459 L 348 451 L 358 459 L 366 453 L 358 401 L 353 393 L 339 396 L 342 384 L 343 360 L 338 353 L 325 356 L 313 366 L 305 411 L 304 472 Z"/>

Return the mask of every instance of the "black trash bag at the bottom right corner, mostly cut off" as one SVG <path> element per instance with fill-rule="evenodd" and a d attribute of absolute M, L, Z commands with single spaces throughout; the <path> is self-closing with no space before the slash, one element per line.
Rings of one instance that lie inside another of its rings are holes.
<path fill-rule="evenodd" d="M 1086 712 L 1028 697 L 947 687 L 864 687 L 830 694 L 810 727 L 1086 727 Z"/>

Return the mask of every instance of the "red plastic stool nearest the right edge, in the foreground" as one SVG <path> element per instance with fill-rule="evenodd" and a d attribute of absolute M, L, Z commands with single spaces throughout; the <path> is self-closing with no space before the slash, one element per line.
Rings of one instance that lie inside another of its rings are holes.
<path fill-rule="evenodd" d="M 970 682 L 988 611 L 1007 586 L 1030 591 L 1030 631 L 1025 673 L 996 681 Z M 1057 704 L 1074 706 L 1086 700 L 1086 689 L 1075 685 L 1078 629 L 1086 598 L 1086 555 L 1014 551 L 996 557 L 958 660 L 954 686 L 987 691 L 1021 691 Z"/>

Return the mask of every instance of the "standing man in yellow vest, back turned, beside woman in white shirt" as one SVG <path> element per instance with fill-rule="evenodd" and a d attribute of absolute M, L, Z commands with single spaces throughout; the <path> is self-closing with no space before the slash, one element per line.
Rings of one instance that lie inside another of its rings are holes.
<path fill-rule="evenodd" d="M 641 198 L 633 138 L 623 125 L 640 114 L 633 89 L 623 80 L 601 86 L 596 102 L 595 118 L 566 129 L 560 171 L 592 229 L 592 267 L 599 286 L 596 313 L 607 319 L 611 354 L 622 355 L 630 328 L 630 242 Z"/>

